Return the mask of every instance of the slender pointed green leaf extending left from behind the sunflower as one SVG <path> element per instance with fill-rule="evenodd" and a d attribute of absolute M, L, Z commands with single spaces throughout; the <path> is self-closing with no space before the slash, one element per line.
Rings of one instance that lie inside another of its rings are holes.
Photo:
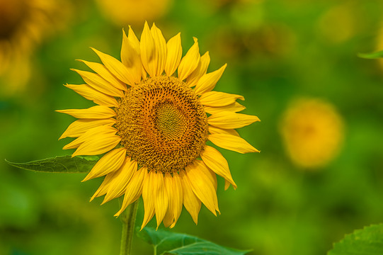
<path fill-rule="evenodd" d="M 11 166 L 30 171 L 47 173 L 86 173 L 92 169 L 98 159 L 97 156 L 72 157 L 68 155 L 40 159 L 26 163 L 13 163 L 8 162 L 7 160 L 6 162 Z"/>

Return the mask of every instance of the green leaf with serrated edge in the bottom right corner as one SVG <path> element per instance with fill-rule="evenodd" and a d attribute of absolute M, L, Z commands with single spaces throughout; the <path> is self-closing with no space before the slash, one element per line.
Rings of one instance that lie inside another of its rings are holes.
<path fill-rule="evenodd" d="M 382 255 L 383 224 L 371 225 L 358 229 L 353 234 L 346 234 L 341 242 L 334 244 L 328 255 Z"/>

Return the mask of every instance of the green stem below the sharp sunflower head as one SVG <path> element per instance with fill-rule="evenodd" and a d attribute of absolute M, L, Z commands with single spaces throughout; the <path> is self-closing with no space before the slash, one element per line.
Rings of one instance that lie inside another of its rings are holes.
<path fill-rule="evenodd" d="M 125 212 L 122 213 L 122 234 L 121 234 L 121 248 L 120 255 L 130 255 L 130 247 L 132 246 L 132 239 L 135 230 L 135 221 L 137 215 L 138 200 L 129 205 Z"/>

